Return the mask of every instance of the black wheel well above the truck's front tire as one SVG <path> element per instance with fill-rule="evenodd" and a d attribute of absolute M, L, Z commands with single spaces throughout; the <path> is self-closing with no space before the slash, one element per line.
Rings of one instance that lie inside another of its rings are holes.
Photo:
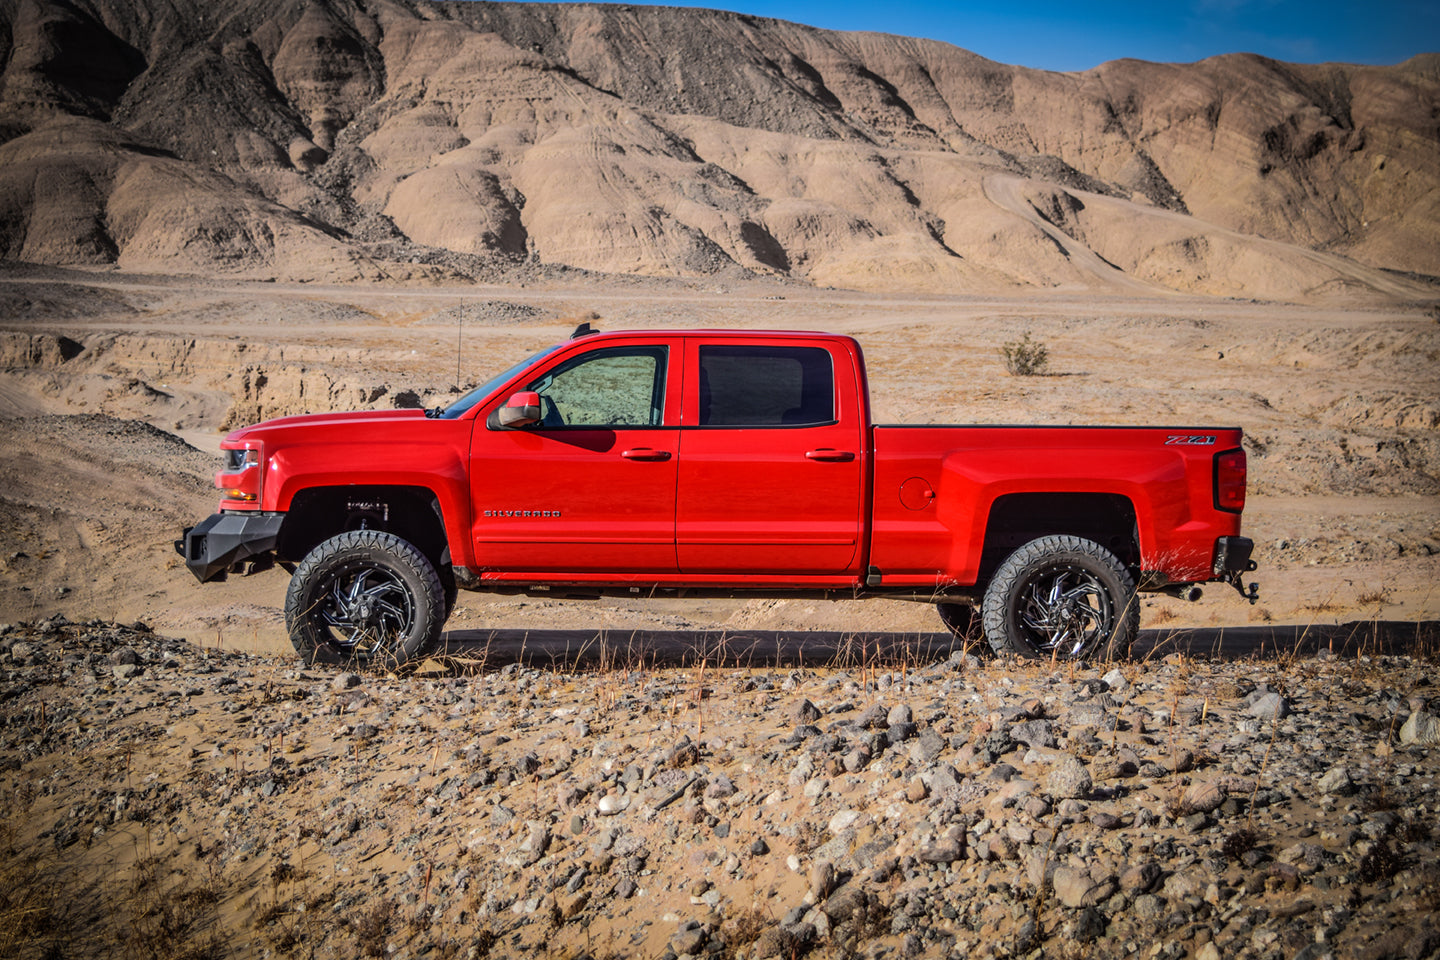
<path fill-rule="evenodd" d="M 320 486 L 295 494 L 276 553 L 300 563 L 323 541 L 347 530 L 383 530 L 408 540 L 436 570 L 449 566 L 439 498 L 423 486 Z"/>

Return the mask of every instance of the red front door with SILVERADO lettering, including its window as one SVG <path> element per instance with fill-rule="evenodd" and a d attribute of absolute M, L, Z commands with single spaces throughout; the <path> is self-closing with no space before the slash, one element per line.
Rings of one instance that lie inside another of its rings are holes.
<path fill-rule="evenodd" d="M 477 419 L 469 478 L 482 571 L 675 573 L 671 376 L 668 343 L 562 354 L 521 387 L 540 394 L 540 423 Z"/>

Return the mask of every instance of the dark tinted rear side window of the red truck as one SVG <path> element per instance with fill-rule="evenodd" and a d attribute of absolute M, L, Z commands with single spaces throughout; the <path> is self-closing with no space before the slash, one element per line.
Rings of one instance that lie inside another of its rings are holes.
<path fill-rule="evenodd" d="M 819 347 L 700 347 L 700 426 L 835 422 L 835 370 Z"/>

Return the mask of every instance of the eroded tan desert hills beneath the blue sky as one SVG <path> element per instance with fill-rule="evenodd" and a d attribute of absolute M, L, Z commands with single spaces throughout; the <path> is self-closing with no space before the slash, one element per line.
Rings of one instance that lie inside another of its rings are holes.
<path fill-rule="evenodd" d="M 1417 298 L 1440 56 L 1084 73 L 605 4 L 0 0 L 0 256 Z"/>

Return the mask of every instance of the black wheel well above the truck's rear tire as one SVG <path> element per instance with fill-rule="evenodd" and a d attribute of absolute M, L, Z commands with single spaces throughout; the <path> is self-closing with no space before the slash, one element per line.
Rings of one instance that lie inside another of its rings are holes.
<path fill-rule="evenodd" d="M 1126 567 L 1140 563 L 1135 504 L 1119 494 L 1007 494 L 991 505 L 981 553 L 981 583 L 1020 547 L 1037 537 L 1084 537 Z"/>

